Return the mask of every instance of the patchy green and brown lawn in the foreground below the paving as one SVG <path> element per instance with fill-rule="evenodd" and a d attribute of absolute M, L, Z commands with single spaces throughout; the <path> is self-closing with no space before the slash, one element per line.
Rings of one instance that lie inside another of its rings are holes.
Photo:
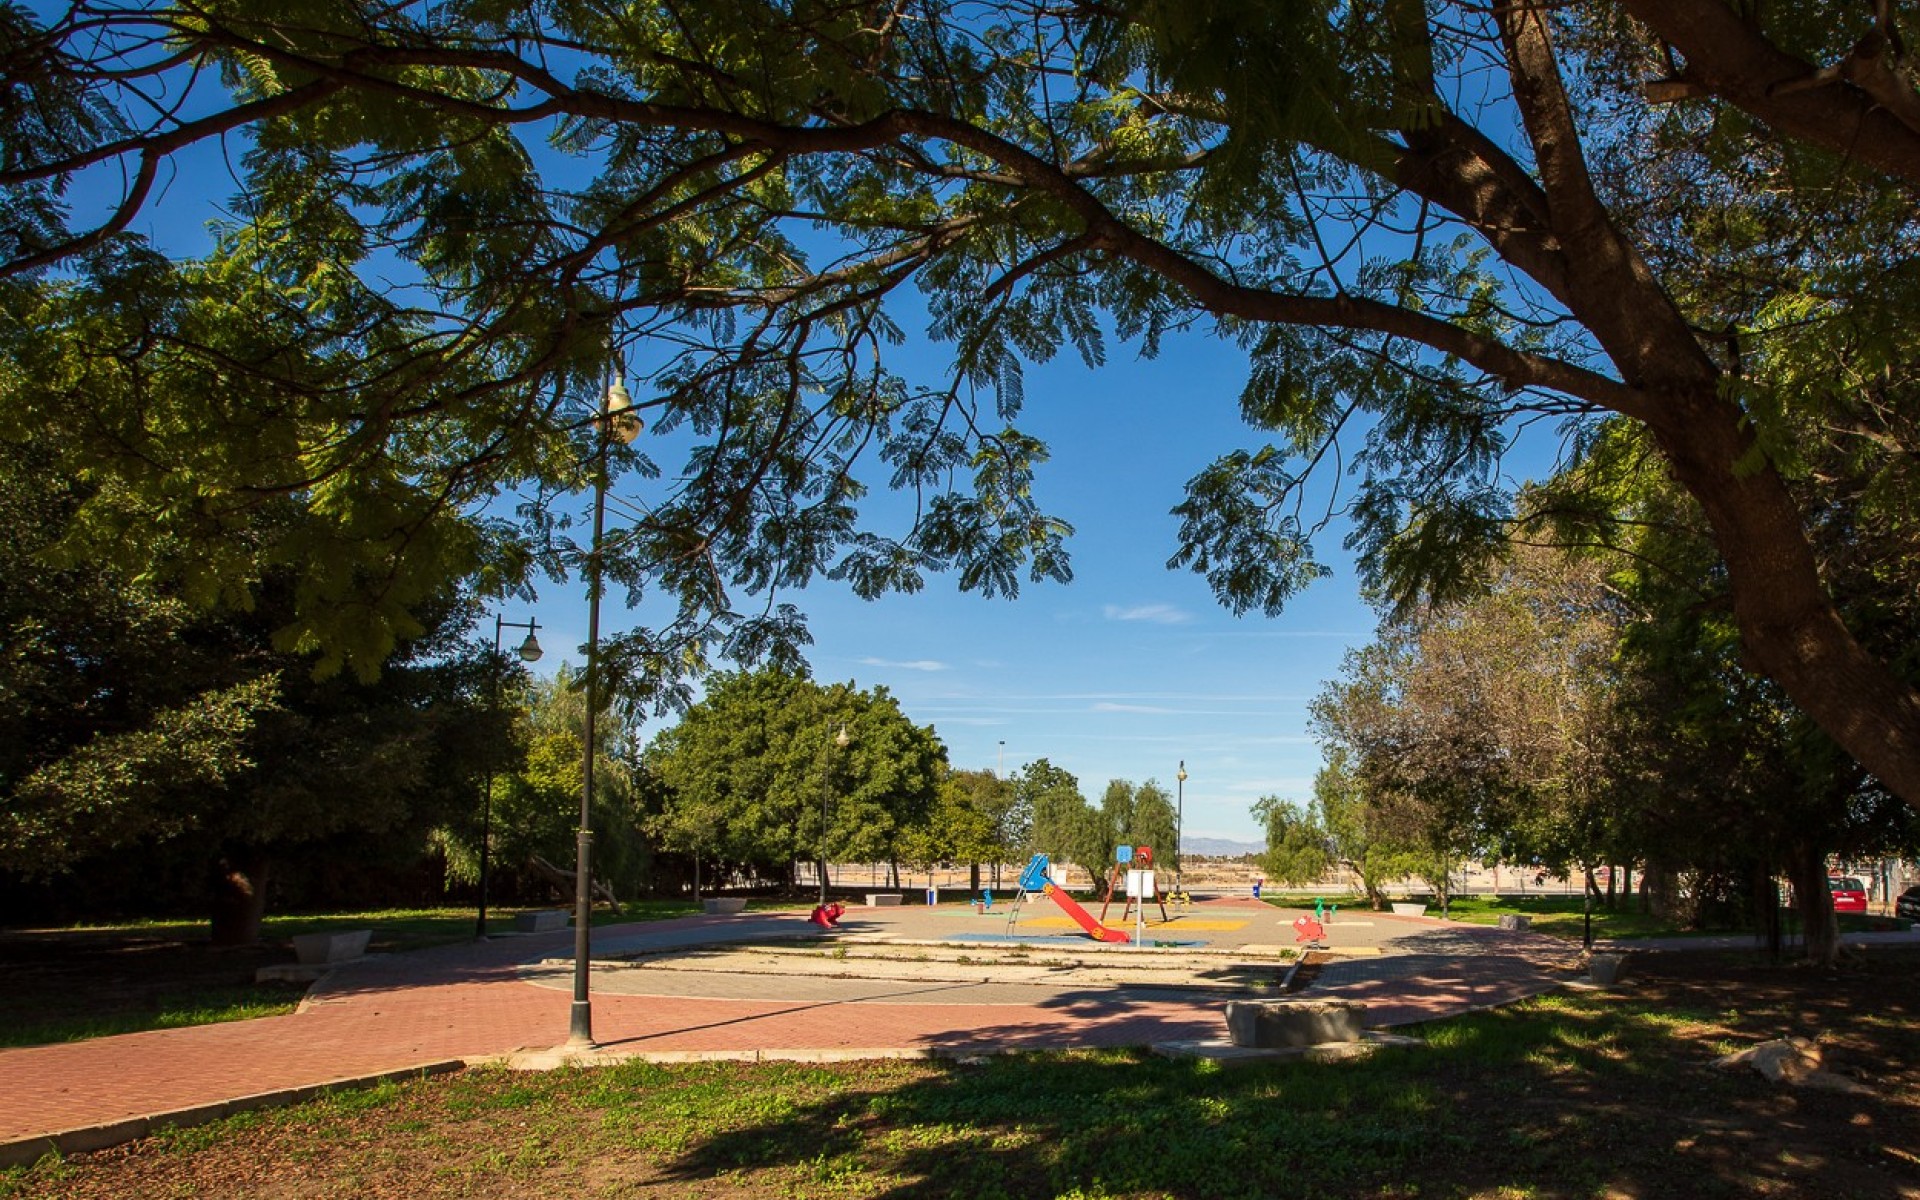
<path fill-rule="evenodd" d="M 1920 952 L 1636 972 L 1359 1064 L 476 1069 L 42 1162 L 0 1196 L 1920 1198 Z M 1870 1091 L 1709 1066 L 1782 1035 Z"/>

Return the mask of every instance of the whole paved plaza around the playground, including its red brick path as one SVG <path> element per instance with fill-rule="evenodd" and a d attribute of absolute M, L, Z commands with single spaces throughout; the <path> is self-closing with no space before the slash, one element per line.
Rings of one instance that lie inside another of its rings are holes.
<path fill-rule="evenodd" d="M 1094 910 L 1098 916 L 1098 910 Z M 1279 996 L 1300 910 L 1200 900 L 1087 937 L 1060 908 L 851 908 L 697 916 L 593 931 L 588 1060 L 972 1056 L 1219 1039 L 1225 1002 Z M 1373 1027 L 1513 1002 L 1569 981 L 1578 956 L 1534 933 L 1375 912 L 1325 924 L 1298 995 L 1367 1002 Z M 572 931 L 371 956 L 298 1012 L 0 1050 L 0 1162 L 115 1144 L 323 1087 L 461 1064 L 557 1060 Z"/>

